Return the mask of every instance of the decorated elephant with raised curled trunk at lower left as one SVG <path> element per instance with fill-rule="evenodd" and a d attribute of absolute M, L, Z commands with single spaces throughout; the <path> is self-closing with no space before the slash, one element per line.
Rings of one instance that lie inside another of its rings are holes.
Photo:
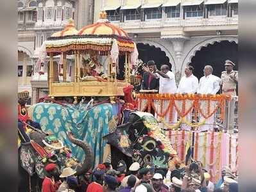
<path fill-rule="evenodd" d="M 94 155 L 90 145 L 74 138 L 72 132 L 68 132 L 67 136 L 71 143 L 82 148 L 85 156 L 83 162 L 73 157 L 71 150 L 54 135 L 43 131 L 28 133 L 30 142 L 21 143 L 18 150 L 20 192 L 40 191 L 42 179 L 46 175 L 45 166 L 49 163 L 57 164 L 59 171 L 65 167 L 71 167 L 76 170 L 76 175 L 86 173 L 92 168 Z"/>

